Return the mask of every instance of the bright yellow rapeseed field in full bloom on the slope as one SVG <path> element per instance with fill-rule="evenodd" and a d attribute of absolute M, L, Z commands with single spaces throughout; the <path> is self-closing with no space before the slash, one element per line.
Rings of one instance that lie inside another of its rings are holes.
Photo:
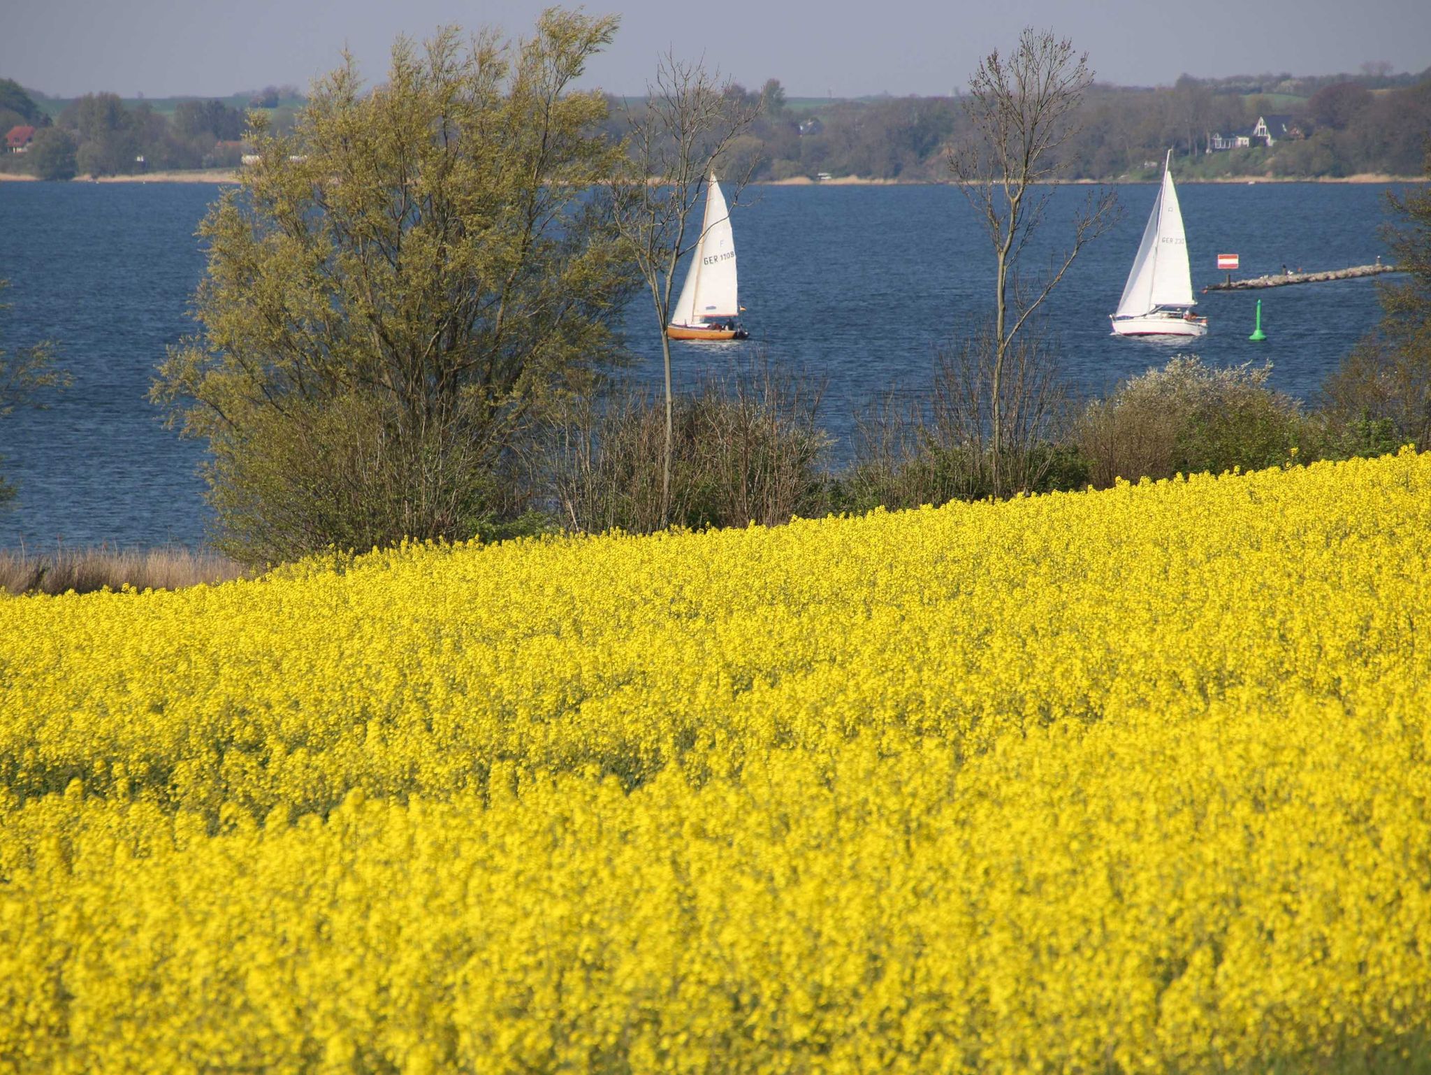
<path fill-rule="evenodd" d="M 1431 455 L 0 600 L 0 1071 L 1431 1035 Z"/>

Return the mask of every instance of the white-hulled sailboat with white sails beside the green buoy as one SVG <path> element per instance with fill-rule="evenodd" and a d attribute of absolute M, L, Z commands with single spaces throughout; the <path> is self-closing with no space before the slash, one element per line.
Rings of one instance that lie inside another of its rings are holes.
<path fill-rule="evenodd" d="M 1188 238 L 1182 230 L 1178 190 L 1172 185 L 1172 150 L 1163 160 L 1162 189 L 1143 229 L 1143 242 L 1123 285 L 1118 312 L 1110 315 L 1119 336 L 1201 336 L 1208 319 L 1193 316 Z"/>

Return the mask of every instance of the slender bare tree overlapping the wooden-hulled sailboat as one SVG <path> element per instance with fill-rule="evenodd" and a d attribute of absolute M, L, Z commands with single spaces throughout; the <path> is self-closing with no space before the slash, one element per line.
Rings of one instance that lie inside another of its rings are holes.
<path fill-rule="evenodd" d="M 665 368 L 665 445 L 661 454 L 661 521 L 671 508 L 671 341 L 665 324 L 671 313 L 671 288 L 681 258 L 700 240 L 691 213 L 705 193 L 713 170 L 731 143 L 760 115 L 761 103 L 731 93 L 718 73 L 704 63 L 661 57 L 655 82 L 647 84 L 640 110 L 628 107 L 631 166 L 612 182 L 617 228 L 651 292 L 661 361 Z M 756 166 L 730 183 L 731 208 Z M 700 216 L 697 216 L 700 219 Z"/>

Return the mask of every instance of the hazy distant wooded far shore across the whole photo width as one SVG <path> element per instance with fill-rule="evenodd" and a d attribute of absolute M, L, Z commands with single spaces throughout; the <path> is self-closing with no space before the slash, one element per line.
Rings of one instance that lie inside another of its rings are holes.
<path fill-rule="evenodd" d="M 756 180 L 859 176 L 902 182 L 949 177 L 949 146 L 966 139 L 957 97 L 873 97 L 790 102 L 778 79 L 758 90 L 727 86 L 734 103 L 760 117 L 727 149 L 726 167 Z M 272 113 L 285 130 L 296 112 L 293 86 L 246 94 L 248 107 Z M 235 99 L 229 99 L 230 102 Z M 627 133 L 624 116 L 640 103 L 608 97 L 605 133 Z M 1259 116 L 1291 116 L 1292 137 L 1272 147 L 1212 152 L 1215 135 L 1245 135 Z M 80 97 L 53 122 L 26 90 L 0 80 L 0 132 L 37 127 L 30 152 L 4 167 L 46 179 L 140 170 L 232 167 L 239 163 L 245 109 L 220 100 L 183 100 L 172 112 L 113 93 Z M 1172 86 L 1093 84 L 1080 104 L 1080 133 L 1063 149 L 1075 179 L 1142 177 L 1172 146 L 1179 175 L 1198 179 L 1265 175 L 1337 177 L 1377 172 L 1417 175 L 1431 136 L 1431 70 L 1392 73 L 1368 63 L 1359 74 L 1261 74 L 1196 79 Z"/>

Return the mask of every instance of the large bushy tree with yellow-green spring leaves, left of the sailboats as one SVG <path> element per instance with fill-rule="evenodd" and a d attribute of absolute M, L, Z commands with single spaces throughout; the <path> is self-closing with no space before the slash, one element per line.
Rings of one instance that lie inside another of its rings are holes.
<path fill-rule="evenodd" d="M 200 235 L 202 331 L 152 397 L 207 441 L 220 545 L 469 538 L 517 512 L 507 475 L 548 408 L 624 354 L 622 245 L 594 188 L 620 146 L 575 92 L 614 17 L 551 9 L 519 46 L 399 39 L 366 90 L 351 59 Z"/>

